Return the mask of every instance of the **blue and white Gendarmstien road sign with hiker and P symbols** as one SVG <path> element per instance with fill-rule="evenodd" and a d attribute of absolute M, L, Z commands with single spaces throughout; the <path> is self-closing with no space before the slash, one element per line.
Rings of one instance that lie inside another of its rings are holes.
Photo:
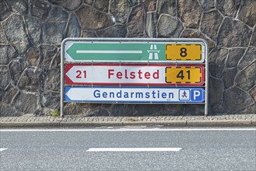
<path fill-rule="evenodd" d="M 66 102 L 87 103 L 203 103 L 202 88 L 164 87 L 71 87 L 65 88 Z"/>

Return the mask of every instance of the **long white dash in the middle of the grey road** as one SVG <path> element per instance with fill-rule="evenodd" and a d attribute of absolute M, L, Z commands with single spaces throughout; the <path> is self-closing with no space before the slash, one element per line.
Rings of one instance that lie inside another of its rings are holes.
<path fill-rule="evenodd" d="M 178 152 L 181 148 L 89 148 L 86 152 Z"/>

